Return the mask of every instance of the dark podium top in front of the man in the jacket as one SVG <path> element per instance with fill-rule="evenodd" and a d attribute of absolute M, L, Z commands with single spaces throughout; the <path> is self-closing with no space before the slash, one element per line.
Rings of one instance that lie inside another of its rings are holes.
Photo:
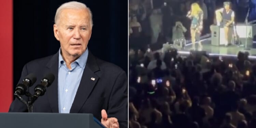
<path fill-rule="evenodd" d="M 105 128 L 93 114 L 0 113 L 0 128 Z"/>

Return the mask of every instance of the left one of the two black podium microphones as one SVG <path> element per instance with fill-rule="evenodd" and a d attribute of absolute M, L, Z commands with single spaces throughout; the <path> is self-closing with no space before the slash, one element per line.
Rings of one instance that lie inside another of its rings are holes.
<path fill-rule="evenodd" d="M 27 87 L 31 87 L 35 81 L 37 81 L 37 77 L 35 77 L 33 73 L 28 74 L 23 80 L 23 83 L 16 86 L 14 95 L 24 95 L 27 91 Z"/>

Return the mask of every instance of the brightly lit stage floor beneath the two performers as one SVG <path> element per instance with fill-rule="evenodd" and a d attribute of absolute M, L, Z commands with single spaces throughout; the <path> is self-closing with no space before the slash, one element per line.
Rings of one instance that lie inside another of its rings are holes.
<path fill-rule="evenodd" d="M 211 38 L 202 40 L 202 51 L 206 51 L 210 55 L 230 55 L 237 56 L 239 51 L 245 51 L 244 47 L 238 47 L 237 45 L 225 46 L 213 46 L 211 45 Z M 179 53 L 189 53 L 190 48 L 192 47 L 191 43 L 187 44 L 183 50 L 179 50 Z M 198 48 L 198 43 L 196 43 L 196 51 Z M 250 47 L 250 50 L 247 50 L 250 53 L 250 56 L 256 56 L 256 48 Z"/>

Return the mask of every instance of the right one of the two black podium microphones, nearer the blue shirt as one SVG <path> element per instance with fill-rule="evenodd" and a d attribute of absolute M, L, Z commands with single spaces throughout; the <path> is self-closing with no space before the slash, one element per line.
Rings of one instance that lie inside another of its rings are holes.
<path fill-rule="evenodd" d="M 32 96 L 31 102 L 29 104 L 34 103 L 34 101 L 37 100 L 39 96 L 43 96 L 46 92 L 46 88 L 53 83 L 54 79 L 55 76 L 52 73 L 45 74 L 43 79 L 41 80 L 41 84 L 35 86 L 35 94 Z"/>

